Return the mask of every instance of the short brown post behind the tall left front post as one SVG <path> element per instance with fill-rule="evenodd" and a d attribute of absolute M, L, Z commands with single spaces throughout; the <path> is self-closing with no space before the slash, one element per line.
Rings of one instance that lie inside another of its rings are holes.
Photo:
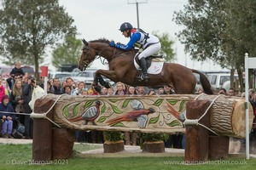
<path fill-rule="evenodd" d="M 75 134 L 64 128 L 53 128 L 52 159 L 64 160 L 72 156 Z"/>

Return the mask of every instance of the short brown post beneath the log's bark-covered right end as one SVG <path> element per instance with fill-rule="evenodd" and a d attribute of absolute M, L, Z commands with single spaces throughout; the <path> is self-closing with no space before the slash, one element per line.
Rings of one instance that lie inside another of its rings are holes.
<path fill-rule="evenodd" d="M 230 137 L 210 136 L 209 137 L 209 159 L 221 160 L 229 157 Z"/>

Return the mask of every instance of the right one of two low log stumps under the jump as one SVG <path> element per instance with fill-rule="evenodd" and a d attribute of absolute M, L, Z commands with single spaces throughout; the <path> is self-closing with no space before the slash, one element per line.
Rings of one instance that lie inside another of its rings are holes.
<path fill-rule="evenodd" d="M 163 141 L 144 142 L 143 152 L 163 153 L 165 152 L 165 143 Z"/>

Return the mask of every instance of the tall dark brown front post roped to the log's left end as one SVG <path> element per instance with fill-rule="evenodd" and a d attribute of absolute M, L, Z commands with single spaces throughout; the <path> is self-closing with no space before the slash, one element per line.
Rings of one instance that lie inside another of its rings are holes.
<path fill-rule="evenodd" d="M 45 113 L 54 104 L 52 99 L 37 99 L 35 102 L 35 113 Z M 49 111 L 47 117 L 53 119 L 53 110 Z M 32 160 L 49 161 L 51 160 L 52 150 L 52 122 L 44 118 L 33 119 L 33 143 Z"/>

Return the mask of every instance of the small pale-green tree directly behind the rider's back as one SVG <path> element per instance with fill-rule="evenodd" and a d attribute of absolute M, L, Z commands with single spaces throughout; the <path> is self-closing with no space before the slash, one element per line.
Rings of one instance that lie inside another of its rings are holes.
<path fill-rule="evenodd" d="M 152 34 L 160 39 L 160 54 L 165 57 L 166 61 L 173 61 L 175 59 L 175 54 L 172 49 L 174 42 L 170 40 L 169 34 L 164 32 L 162 35 L 160 35 L 158 31 L 153 31 Z"/>

